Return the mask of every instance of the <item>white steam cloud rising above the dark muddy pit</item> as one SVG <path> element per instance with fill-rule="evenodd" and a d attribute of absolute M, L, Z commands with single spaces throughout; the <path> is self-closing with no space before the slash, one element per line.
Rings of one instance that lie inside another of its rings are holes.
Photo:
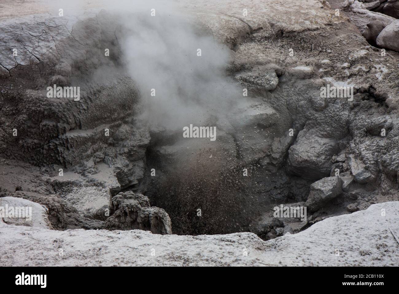
<path fill-rule="evenodd" d="M 165 2 L 142 5 L 123 15 L 124 60 L 152 125 L 180 129 L 215 124 L 229 113 L 240 89 L 225 78 L 227 47 L 217 44 L 212 35 L 199 35 L 187 21 L 189 13 L 179 13 Z"/>

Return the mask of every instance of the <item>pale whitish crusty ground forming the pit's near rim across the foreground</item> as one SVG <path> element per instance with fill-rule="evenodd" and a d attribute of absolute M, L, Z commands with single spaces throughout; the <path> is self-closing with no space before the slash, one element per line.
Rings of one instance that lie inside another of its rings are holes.
<path fill-rule="evenodd" d="M 399 244 L 393 234 L 399 235 L 399 202 L 373 204 L 267 242 L 252 233 L 162 236 L 140 230 L 55 231 L 0 222 L 0 262 L 8 266 L 399 266 Z"/>

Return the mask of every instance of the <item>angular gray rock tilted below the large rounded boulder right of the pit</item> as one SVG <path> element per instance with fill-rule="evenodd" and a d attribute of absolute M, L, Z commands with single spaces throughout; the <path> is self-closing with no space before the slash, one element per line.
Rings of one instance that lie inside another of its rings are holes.
<path fill-rule="evenodd" d="M 306 206 L 308 206 L 310 211 L 316 211 L 341 193 L 342 180 L 340 177 L 323 178 L 310 185 Z"/>

